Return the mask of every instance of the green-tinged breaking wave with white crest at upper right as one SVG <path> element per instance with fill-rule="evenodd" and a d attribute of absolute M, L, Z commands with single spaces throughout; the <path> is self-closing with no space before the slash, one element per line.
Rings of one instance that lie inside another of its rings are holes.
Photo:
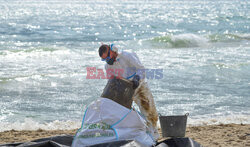
<path fill-rule="evenodd" d="M 239 42 L 250 40 L 250 34 L 212 34 L 212 35 L 196 35 L 196 34 L 179 34 L 166 35 L 151 38 L 153 46 L 164 48 L 186 48 L 186 47 L 204 47 L 216 42 Z"/>

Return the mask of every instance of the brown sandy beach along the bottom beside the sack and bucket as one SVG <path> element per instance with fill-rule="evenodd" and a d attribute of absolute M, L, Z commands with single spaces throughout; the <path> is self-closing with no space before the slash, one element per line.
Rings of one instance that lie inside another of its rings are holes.
<path fill-rule="evenodd" d="M 25 142 L 61 134 L 74 135 L 76 131 L 76 129 L 51 131 L 5 131 L 0 132 L 0 144 Z M 186 137 L 194 139 L 205 147 L 246 147 L 250 146 L 250 124 L 191 126 L 186 130 Z"/>

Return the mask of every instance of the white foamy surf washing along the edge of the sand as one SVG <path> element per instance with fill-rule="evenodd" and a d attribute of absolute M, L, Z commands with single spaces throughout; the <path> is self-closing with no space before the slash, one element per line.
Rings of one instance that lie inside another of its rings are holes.
<path fill-rule="evenodd" d="M 204 125 L 219 125 L 219 124 L 250 124 L 250 118 L 248 115 L 229 115 L 229 116 L 195 116 L 188 117 L 188 126 L 204 126 Z M 81 127 L 80 121 L 60 121 L 54 120 L 52 122 L 41 123 L 31 118 L 26 118 L 23 122 L 0 122 L 0 132 L 9 130 L 72 130 L 79 129 Z M 158 122 L 158 127 L 160 123 Z"/>

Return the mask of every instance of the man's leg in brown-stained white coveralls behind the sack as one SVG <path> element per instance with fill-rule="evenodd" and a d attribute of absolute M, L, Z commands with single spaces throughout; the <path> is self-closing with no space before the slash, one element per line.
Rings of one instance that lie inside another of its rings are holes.
<path fill-rule="evenodd" d="M 154 137 L 159 138 L 157 130 L 158 113 L 156 111 L 153 95 L 146 82 L 141 81 L 140 86 L 136 89 L 133 100 L 139 106 L 141 113 L 147 120 L 147 125 L 152 127 Z"/>

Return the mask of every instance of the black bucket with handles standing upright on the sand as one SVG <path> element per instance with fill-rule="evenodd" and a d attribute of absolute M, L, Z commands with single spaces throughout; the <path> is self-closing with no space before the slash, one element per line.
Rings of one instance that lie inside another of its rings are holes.
<path fill-rule="evenodd" d="M 185 137 L 188 115 L 188 113 L 176 116 L 160 115 L 162 137 Z"/>

